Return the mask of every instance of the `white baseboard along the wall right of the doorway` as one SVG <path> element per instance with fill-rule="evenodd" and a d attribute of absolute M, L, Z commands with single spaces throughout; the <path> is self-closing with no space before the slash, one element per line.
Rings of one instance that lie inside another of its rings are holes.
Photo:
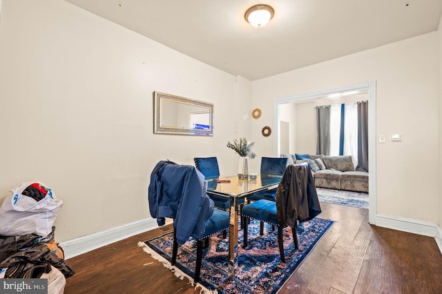
<path fill-rule="evenodd" d="M 403 219 L 400 217 L 390 217 L 387 215 L 376 215 L 376 222 L 374 225 L 407 233 L 434 237 L 437 246 L 439 246 L 439 251 L 442 253 L 442 231 L 441 227 L 436 224 L 419 222 L 413 219 Z"/>

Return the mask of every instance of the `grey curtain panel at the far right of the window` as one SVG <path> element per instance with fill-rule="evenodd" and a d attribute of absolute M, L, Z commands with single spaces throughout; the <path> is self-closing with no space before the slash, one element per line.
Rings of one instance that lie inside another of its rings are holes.
<path fill-rule="evenodd" d="M 358 166 L 368 172 L 368 101 L 358 102 Z"/>

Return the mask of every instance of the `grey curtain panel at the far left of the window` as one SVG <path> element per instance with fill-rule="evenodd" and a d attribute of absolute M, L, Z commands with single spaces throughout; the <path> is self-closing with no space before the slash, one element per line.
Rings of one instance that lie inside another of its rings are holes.
<path fill-rule="evenodd" d="M 316 107 L 316 154 L 329 155 L 330 151 L 330 106 Z"/>

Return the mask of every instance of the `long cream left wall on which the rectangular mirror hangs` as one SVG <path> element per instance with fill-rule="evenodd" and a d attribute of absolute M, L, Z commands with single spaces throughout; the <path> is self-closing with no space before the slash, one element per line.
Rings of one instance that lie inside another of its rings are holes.
<path fill-rule="evenodd" d="M 213 103 L 215 135 L 154 135 L 154 90 Z M 61 0 L 3 0 L 0 100 L 0 198 L 25 181 L 52 188 L 57 242 L 150 218 L 160 159 L 216 155 L 236 173 L 226 144 L 250 129 L 231 109 L 249 105 L 247 79 Z"/>

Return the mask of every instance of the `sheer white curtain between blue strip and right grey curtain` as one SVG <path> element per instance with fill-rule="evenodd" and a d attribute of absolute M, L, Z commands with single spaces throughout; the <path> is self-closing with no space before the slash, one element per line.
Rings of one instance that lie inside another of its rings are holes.
<path fill-rule="evenodd" d="M 345 104 L 344 155 L 352 155 L 354 166 L 358 166 L 358 104 Z"/>

